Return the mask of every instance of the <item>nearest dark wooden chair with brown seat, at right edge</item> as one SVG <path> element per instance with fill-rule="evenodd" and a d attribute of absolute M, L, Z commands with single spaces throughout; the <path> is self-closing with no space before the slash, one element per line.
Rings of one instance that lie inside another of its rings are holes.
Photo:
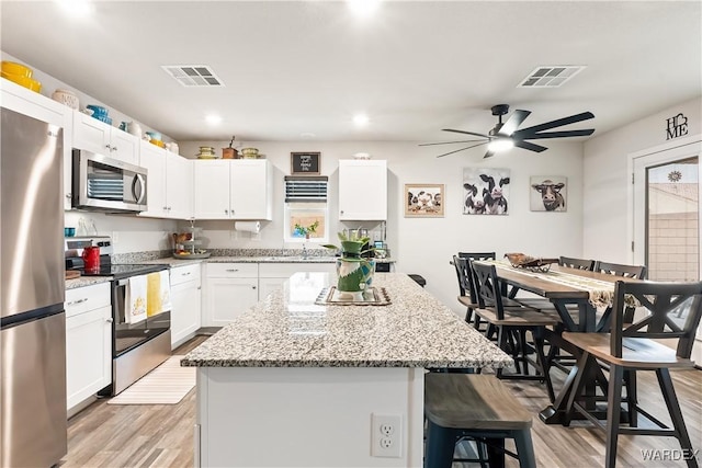
<path fill-rule="evenodd" d="M 644 313 L 641 319 L 627 323 L 624 316 L 626 308 L 632 304 L 635 304 L 638 310 Z M 672 317 L 681 311 L 681 315 L 686 317 L 682 326 L 678 324 L 679 321 Z M 605 430 L 605 467 L 613 468 L 615 466 L 620 434 L 673 436 L 679 441 L 682 454 L 690 454 L 686 460 L 688 466 L 698 466 L 670 379 L 670 369 L 693 367 L 694 363 L 690 359 L 690 355 L 701 317 L 702 282 L 627 283 L 618 281 L 614 287 L 611 333 L 563 333 L 564 339 L 581 352 L 577 364 L 578 372 L 573 385 L 574 390 L 568 399 L 566 425 L 574 411 L 578 411 Z M 671 349 L 656 341 L 663 339 L 677 340 L 677 347 Z M 599 367 L 600 364 L 609 365 L 605 426 L 579 402 L 585 385 L 582 376 L 587 374 L 588 368 Z M 627 427 L 622 427 L 620 421 L 622 384 L 626 373 L 635 376 L 638 370 L 656 373 L 663 398 L 672 421 L 672 429 L 643 410 L 635 398 L 634 401 L 627 398 L 630 423 Z M 636 418 L 638 413 L 658 427 L 638 427 Z"/>

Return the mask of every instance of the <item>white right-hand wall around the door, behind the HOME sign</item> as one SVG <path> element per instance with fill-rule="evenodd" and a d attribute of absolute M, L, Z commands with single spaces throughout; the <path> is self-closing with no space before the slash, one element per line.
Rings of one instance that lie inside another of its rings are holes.
<path fill-rule="evenodd" d="M 585 142 L 585 256 L 615 263 L 632 262 L 629 155 L 665 144 L 666 119 L 679 113 L 688 117 L 688 136 L 702 134 L 702 99 L 697 98 Z"/>

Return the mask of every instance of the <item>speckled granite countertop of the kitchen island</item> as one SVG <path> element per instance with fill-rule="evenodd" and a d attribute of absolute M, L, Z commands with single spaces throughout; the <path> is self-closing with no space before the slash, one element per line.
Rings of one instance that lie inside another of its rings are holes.
<path fill-rule="evenodd" d="M 388 306 L 315 305 L 328 273 L 296 273 L 181 361 L 197 367 L 505 367 L 512 358 L 398 273 Z"/>

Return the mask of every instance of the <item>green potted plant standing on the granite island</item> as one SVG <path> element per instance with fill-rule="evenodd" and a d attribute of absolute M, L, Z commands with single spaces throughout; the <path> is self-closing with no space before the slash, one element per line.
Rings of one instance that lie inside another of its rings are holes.
<path fill-rule="evenodd" d="M 373 273 L 375 273 L 375 260 L 363 258 L 363 253 L 373 249 L 363 250 L 363 246 L 371 240 L 362 237 L 359 230 L 338 232 L 341 241 L 341 249 L 333 244 L 325 244 L 327 249 L 341 250 L 341 256 L 337 259 L 337 289 L 352 296 L 354 299 L 362 299 L 363 290 L 371 285 Z"/>

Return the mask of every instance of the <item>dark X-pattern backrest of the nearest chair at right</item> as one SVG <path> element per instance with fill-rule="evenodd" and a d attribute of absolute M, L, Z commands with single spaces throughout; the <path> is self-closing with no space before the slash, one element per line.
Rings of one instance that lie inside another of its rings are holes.
<path fill-rule="evenodd" d="M 625 315 L 636 304 L 641 319 L 625 323 Z M 673 316 L 684 318 L 682 326 Z M 618 281 L 612 305 L 610 352 L 622 357 L 624 338 L 677 339 L 676 355 L 689 358 L 697 328 L 702 318 L 702 282 L 697 283 L 627 283 Z"/>

